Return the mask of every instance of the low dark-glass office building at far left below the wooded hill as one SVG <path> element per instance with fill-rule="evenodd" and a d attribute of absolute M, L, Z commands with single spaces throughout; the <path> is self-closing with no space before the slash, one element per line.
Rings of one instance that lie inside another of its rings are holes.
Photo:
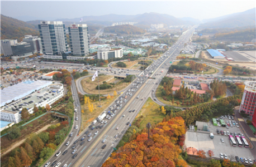
<path fill-rule="evenodd" d="M 27 57 L 33 55 L 31 45 L 27 42 L 16 43 L 15 45 L 12 45 L 11 48 L 13 56 Z"/>

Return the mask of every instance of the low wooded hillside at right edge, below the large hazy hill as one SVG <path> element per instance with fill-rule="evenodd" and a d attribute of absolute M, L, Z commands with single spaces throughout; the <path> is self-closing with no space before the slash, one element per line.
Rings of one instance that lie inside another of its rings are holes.
<path fill-rule="evenodd" d="M 230 31 L 230 32 L 220 32 L 216 33 L 214 38 L 216 40 L 227 40 L 227 41 L 242 41 L 242 42 L 250 42 L 252 41 L 255 37 L 256 34 L 256 28 L 250 28 L 246 30 L 241 30 L 241 31 Z"/>

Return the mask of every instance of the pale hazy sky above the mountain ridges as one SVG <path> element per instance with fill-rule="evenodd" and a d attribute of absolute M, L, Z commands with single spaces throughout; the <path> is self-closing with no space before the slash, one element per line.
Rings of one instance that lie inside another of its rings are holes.
<path fill-rule="evenodd" d="M 197 19 L 215 18 L 255 8 L 255 1 L 1 1 L 1 14 L 32 19 L 78 18 L 149 12 Z"/>

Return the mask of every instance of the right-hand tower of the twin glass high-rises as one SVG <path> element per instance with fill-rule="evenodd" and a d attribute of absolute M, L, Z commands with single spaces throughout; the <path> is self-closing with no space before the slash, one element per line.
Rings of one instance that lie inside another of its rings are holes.
<path fill-rule="evenodd" d="M 89 36 L 87 24 L 70 24 L 68 27 L 71 53 L 74 56 L 89 54 Z"/>

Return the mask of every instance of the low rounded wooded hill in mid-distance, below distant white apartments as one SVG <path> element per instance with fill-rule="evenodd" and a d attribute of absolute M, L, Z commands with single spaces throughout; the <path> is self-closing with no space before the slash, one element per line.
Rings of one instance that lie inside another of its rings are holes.
<path fill-rule="evenodd" d="M 142 34 L 142 33 L 145 33 L 146 30 L 143 30 L 142 28 L 131 26 L 131 25 L 121 25 L 121 26 L 106 27 L 104 28 L 104 32 L 131 35 L 131 34 Z"/>

